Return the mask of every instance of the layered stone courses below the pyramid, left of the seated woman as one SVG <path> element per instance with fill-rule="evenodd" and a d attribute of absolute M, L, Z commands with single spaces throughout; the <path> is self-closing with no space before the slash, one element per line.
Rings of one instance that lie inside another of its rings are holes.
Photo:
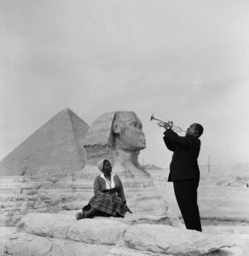
<path fill-rule="evenodd" d="M 0 225 L 14 225 L 27 212 L 81 209 L 93 181 L 74 175 L 9 176 L 0 179 Z"/>

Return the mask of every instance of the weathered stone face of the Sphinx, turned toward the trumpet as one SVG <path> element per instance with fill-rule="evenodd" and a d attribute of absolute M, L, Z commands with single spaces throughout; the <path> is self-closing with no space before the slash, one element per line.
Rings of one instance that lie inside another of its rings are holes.
<path fill-rule="evenodd" d="M 145 136 L 142 131 L 142 122 L 133 112 L 116 113 L 113 122 L 116 148 L 138 151 L 146 148 Z"/>

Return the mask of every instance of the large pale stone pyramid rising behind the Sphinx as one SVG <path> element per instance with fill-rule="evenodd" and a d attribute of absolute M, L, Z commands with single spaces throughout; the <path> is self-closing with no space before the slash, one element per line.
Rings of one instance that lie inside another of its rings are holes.
<path fill-rule="evenodd" d="M 66 108 L 35 131 L 0 162 L 0 175 L 67 174 L 86 162 L 83 139 L 89 130 Z"/>

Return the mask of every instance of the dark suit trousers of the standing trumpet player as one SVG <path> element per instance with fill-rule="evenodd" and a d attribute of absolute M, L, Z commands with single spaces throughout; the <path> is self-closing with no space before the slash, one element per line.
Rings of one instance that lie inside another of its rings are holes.
<path fill-rule="evenodd" d="M 186 229 L 201 232 L 200 212 L 197 204 L 199 182 L 194 179 L 186 179 L 174 181 L 173 184 Z"/>

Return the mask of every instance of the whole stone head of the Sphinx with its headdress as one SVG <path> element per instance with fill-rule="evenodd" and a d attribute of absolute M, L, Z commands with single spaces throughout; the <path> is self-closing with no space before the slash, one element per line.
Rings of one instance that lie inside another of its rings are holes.
<path fill-rule="evenodd" d="M 141 120 L 130 111 L 102 114 L 95 119 L 84 137 L 88 163 L 96 163 L 96 160 L 104 157 L 113 163 L 117 155 L 127 159 L 128 154 L 132 162 L 136 162 L 137 155 L 145 147 Z"/>

